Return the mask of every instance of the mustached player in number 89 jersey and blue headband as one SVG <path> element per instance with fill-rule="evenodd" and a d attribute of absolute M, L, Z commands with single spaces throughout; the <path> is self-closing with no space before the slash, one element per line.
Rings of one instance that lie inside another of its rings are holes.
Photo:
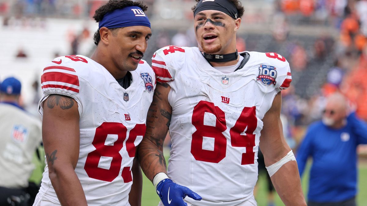
<path fill-rule="evenodd" d="M 141 60 L 152 35 L 146 9 L 110 0 L 94 15 L 91 58 L 61 56 L 44 68 L 39 113 L 47 165 L 34 205 L 141 205 L 135 147 L 155 88 Z"/>

